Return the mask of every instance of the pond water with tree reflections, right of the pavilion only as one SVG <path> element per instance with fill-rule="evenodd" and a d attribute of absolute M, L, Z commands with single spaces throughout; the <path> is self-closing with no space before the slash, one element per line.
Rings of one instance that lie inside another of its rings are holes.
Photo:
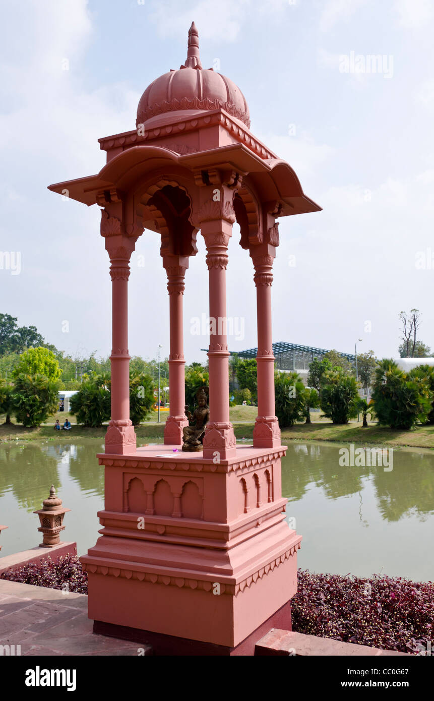
<path fill-rule="evenodd" d="M 341 467 L 340 447 L 290 444 L 283 458 L 287 522 L 303 536 L 299 566 L 434 580 L 434 454 L 395 450 L 393 470 Z"/>

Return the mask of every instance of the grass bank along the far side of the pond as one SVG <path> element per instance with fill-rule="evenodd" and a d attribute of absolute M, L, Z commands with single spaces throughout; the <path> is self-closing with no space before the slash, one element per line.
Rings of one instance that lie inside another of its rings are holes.
<path fill-rule="evenodd" d="M 161 441 L 163 438 L 164 423 L 168 412 L 161 411 L 161 423 L 157 423 L 157 413 L 151 415 L 149 421 L 136 426 L 139 444 L 144 442 Z M 257 407 L 231 407 L 230 418 L 237 438 L 252 439 Z M 55 431 L 53 425 L 56 418 L 63 424 L 68 417 L 72 423 L 70 431 Z M 414 448 L 434 448 L 434 426 L 418 426 L 411 431 L 392 430 L 382 428 L 377 423 L 369 423 L 367 428 L 362 428 L 361 421 L 352 421 L 346 426 L 334 426 L 328 419 L 320 419 L 318 412 L 312 412 L 311 424 L 297 423 L 291 428 L 282 430 L 282 442 L 290 440 L 324 440 L 339 443 L 362 443 L 377 446 L 408 446 Z M 20 424 L 4 423 L 5 416 L 0 416 L 0 441 L 5 440 L 34 440 L 53 439 L 71 442 L 72 437 L 104 438 L 107 425 L 101 428 L 85 428 L 76 426 L 75 416 L 67 411 L 59 411 L 39 428 L 25 428 Z"/>

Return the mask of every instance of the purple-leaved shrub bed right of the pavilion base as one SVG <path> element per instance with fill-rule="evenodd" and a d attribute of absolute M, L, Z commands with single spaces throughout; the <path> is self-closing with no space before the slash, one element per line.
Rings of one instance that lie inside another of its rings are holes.
<path fill-rule="evenodd" d="M 299 570 L 292 628 L 348 643 L 406 653 L 433 640 L 434 585 Z"/>

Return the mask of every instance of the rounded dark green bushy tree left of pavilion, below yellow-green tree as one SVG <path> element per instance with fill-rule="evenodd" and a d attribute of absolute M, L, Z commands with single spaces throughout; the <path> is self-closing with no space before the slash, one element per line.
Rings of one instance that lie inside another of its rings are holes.
<path fill-rule="evenodd" d="M 57 382 L 42 374 L 20 373 L 12 393 L 14 413 L 23 426 L 39 426 L 57 411 Z"/>

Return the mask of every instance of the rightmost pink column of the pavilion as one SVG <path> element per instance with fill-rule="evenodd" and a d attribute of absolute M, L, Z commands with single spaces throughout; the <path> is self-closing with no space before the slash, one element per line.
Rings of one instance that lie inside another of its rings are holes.
<path fill-rule="evenodd" d="M 273 257 L 252 256 L 257 299 L 258 415 L 253 430 L 255 448 L 280 446 L 280 428 L 274 405 L 274 355 L 271 333 L 271 283 Z"/>

